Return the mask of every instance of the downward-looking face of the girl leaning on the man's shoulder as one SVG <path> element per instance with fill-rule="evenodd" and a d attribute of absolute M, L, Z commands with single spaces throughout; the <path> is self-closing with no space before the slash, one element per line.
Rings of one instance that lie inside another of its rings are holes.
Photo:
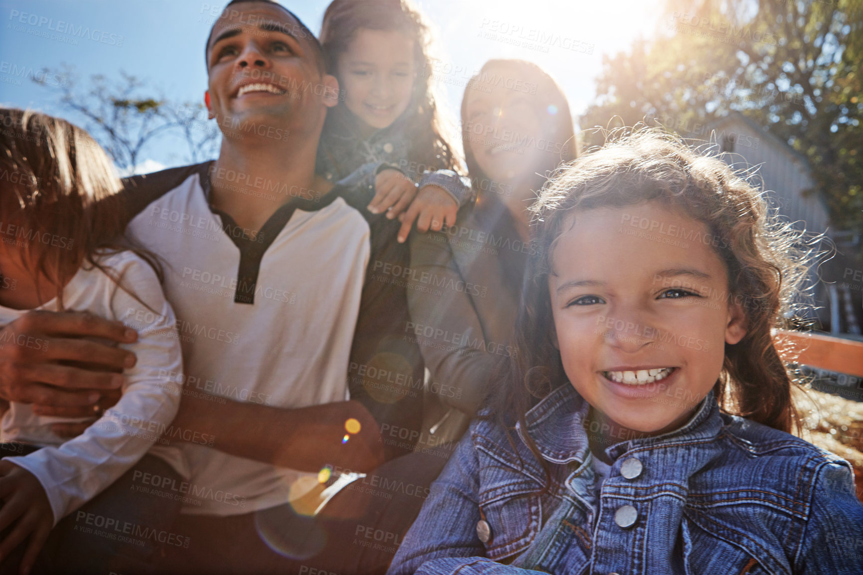
<path fill-rule="evenodd" d="M 338 57 L 344 104 L 381 130 L 406 111 L 416 79 L 415 41 L 397 30 L 359 28 Z"/>

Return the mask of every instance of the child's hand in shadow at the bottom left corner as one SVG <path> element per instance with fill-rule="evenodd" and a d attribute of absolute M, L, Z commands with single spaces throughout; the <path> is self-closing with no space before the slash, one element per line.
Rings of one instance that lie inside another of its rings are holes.
<path fill-rule="evenodd" d="M 27 573 L 54 527 L 54 511 L 35 475 L 5 460 L 0 460 L 0 501 L 0 533 L 11 527 L 0 541 L 0 561 L 27 540 L 21 559 L 21 572 Z"/>

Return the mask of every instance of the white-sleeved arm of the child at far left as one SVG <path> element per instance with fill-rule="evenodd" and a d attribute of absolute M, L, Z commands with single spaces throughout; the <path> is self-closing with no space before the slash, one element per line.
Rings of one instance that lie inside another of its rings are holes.
<path fill-rule="evenodd" d="M 107 278 L 105 284 L 94 286 L 106 292 L 111 319 L 120 319 L 139 331 L 137 343 L 123 345 L 137 356 L 135 367 L 124 374 L 123 397 L 79 437 L 24 457 L 6 458 L 39 479 L 51 504 L 54 524 L 142 458 L 180 406 L 182 358 L 173 310 L 146 262 L 128 252 L 112 260 L 121 262 L 112 269 L 123 285 L 155 310 L 150 311 Z"/>

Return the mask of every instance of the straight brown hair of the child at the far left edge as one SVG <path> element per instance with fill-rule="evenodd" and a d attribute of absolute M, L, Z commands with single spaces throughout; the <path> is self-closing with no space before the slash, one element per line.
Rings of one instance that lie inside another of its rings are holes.
<path fill-rule="evenodd" d="M 0 109 L 0 174 L 8 180 L 0 184 L 0 239 L 22 248 L 37 285 L 44 277 L 57 287 L 60 308 L 66 282 L 84 265 L 134 296 L 99 262 L 123 250 L 142 256 L 161 281 L 155 256 L 123 238 L 124 205 L 117 195 L 123 185 L 85 130 L 59 117 Z M 9 233 L 14 240 L 5 237 Z"/>

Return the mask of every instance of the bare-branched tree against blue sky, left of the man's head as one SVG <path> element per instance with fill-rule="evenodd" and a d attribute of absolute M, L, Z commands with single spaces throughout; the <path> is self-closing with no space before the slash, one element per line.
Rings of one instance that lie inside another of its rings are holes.
<path fill-rule="evenodd" d="M 66 81 L 47 81 L 58 77 Z M 154 88 L 128 73 L 120 71 L 120 78 L 113 80 L 94 74 L 89 87 L 81 88 L 77 75 L 66 66 L 62 74 L 46 70 L 33 81 L 58 92 L 60 105 L 84 118 L 85 129 L 123 174 L 138 167 L 143 149 L 161 136 L 182 137 L 192 163 L 215 155 L 219 131 L 207 123 L 203 105 L 155 97 Z"/>

